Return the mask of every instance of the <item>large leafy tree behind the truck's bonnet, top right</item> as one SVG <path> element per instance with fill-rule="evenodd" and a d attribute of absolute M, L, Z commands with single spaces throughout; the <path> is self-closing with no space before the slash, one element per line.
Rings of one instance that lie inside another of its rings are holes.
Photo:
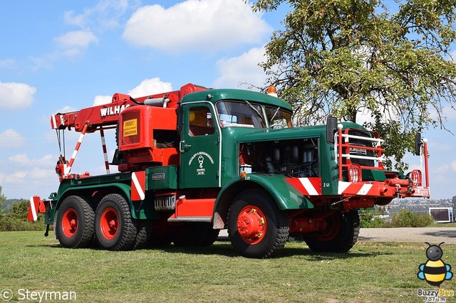
<path fill-rule="evenodd" d="M 266 45 L 262 68 L 295 109 L 299 124 L 326 117 L 359 122 L 387 140 L 387 166 L 402 159 L 413 137 L 445 129 L 455 110 L 454 0 L 258 0 L 255 11 L 288 4 L 284 30 Z M 357 121 L 358 119 L 358 121 Z"/>

